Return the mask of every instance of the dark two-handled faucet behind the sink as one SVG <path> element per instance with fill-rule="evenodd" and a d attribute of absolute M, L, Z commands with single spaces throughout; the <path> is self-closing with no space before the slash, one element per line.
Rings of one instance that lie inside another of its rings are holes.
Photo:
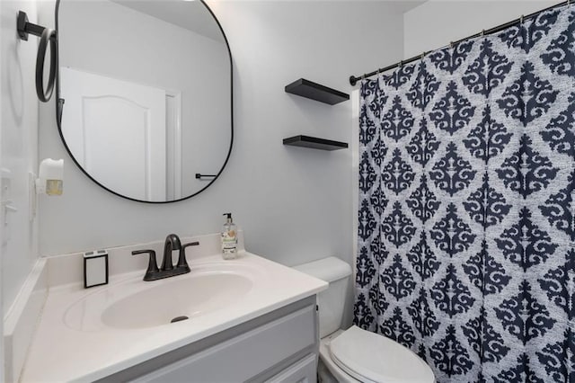
<path fill-rule="evenodd" d="M 154 250 L 137 250 L 133 251 L 132 255 L 150 254 L 144 281 L 156 281 L 190 272 L 190 266 L 186 261 L 186 247 L 195 245 L 199 245 L 199 242 L 190 242 L 190 244 L 181 245 L 180 238 L 175 234 L 166 236 L 164 243 L 164 260 L 162 261 L 161 269 L 158 269 L 158 265 L 155 262 Z M 172 263 L 173 250 L 180 250 L 178 263 L 175 267 Z"/>

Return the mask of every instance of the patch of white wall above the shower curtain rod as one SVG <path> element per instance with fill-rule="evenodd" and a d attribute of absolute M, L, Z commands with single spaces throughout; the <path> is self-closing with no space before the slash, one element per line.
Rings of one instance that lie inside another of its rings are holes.
<path fill-rule="evenodd" d="M 403 15 L 403 58 L 544 9 L 556 0 L 429 0 Z M 390 62 L 390 64 L 394 64 Z"/>

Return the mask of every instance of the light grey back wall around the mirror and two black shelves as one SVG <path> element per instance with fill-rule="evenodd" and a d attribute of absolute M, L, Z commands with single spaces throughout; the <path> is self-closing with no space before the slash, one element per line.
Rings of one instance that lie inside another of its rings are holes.
<path fill-rule="evenodd" d="M 350 102 L 329 106 L 284 86 L 305 77 L 349 92 L 349 75 L 401 57 L 401 16 L 385 2 L 209 4 L 234 56 L 234 149 L 220 179 L 191 200 L 150 205 L 103 191 L 67 160 L 64 196 L 41 201 L 41 254 L 213 233 L 231 211 L 256 254 L 286 264 L 351 260 L 350 151 L 281 142 L 296 134 L 350 142 Z M 53 105 L 40 117 L 40 155 L 67 159 Z"/>

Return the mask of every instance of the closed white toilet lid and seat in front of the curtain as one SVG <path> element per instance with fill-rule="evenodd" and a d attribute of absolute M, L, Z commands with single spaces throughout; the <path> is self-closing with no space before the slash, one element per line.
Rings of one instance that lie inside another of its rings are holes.
<path fill-rule="evenodd" d="M 332 340 L 330 352 L 341 370 L 363 382 L 435 382 L 433 371 L 414 352 L 355 325 Z"/>

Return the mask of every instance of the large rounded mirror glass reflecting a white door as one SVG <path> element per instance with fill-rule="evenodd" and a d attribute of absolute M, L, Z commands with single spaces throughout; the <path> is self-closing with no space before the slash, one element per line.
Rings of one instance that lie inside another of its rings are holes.
<path fill-rule="evenodd" d="M 234 138 L 232 56 L 203 1 L 59 0 L 57 120 L 82 171 L 129 200 L 204 191 Z"/>

